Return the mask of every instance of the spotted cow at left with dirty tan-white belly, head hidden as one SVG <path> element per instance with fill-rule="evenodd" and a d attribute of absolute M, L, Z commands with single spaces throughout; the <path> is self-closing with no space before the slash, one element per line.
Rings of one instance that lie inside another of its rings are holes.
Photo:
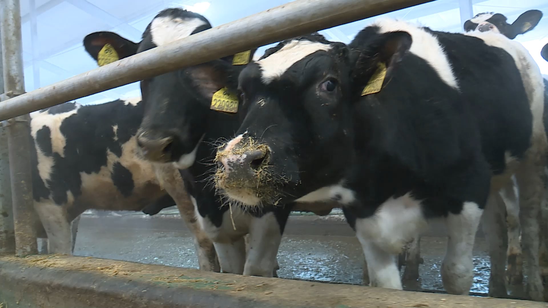
<path fill-rule="evenodd" d="M 42 224 L 38 237 L 47 236 L 49 253 L 71 254 L 76 235 L 71 222 L 84 210 L 176 204 L 193 233 L 199 267 L 219 271 L 213 243 L 196 222 L 179 170 L 136 156 L 143 113 L 140 98 L 88 106 L 66 102 L 31 113 L 33 197 Z"/>

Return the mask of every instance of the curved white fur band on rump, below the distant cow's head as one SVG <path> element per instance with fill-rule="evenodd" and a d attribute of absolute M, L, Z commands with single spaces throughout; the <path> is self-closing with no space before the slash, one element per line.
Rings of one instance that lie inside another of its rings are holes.
<path fill-rule="evenodd" d="M 528 50 L 520 42 L 513 41 L 506 36 L 494 31 L 470 31 L 464 33 L 477 37 L 487 45 L 504 49 L 516 62 L 517 69 L 521 73 L 521 79 L 527 92 L 529 106 L 533 113 L 533 135 L 544 134 L 544 83 L 539 66 L 533 60 Z"/>

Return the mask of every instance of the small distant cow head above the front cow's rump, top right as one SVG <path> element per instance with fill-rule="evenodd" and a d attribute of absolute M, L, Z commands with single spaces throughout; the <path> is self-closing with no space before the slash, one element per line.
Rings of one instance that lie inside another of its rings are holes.
<path fill-rule="evenodd" d="M 494 31 L 514 39 L 517 35 L 533 30 L 543 18 L 543 12 L 528 10 L 521 14 L 512 24 L 506 22 L 506 16 L 499 13 L 479 13 L 470 20 L 464 22 L 464 31 L 478 30 L 481 32 Z"/>

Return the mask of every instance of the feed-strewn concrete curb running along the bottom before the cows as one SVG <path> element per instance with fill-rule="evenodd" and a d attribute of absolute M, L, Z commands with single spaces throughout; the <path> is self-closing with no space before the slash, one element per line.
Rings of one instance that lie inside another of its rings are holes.
<path fill-rule="evenodd" d="M 548 303 L 262 278 L 60 255 L 0 257 L 4 307 L 546 308 Z"/>

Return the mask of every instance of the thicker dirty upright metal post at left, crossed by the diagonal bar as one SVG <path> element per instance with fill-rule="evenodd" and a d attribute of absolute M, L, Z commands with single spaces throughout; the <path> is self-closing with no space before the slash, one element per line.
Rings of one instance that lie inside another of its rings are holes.
<path fill-rule="evenodd" d="M 3 42 L 4 88 L 5 93 L 13 97 L 25 92 L 19 0 L 2 0 L 0 30 Z M 36 212 L 32 198 L 29 122 L 28 114 L 8 121 L 15 254 L 19 256 L 38 253 Z"/>

